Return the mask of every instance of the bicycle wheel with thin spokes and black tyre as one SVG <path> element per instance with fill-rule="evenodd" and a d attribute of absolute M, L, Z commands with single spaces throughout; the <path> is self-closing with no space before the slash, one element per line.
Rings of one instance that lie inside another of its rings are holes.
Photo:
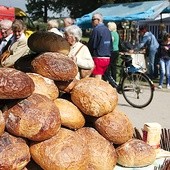
<path fill-rule="evenodd" d="M 153 99 L 154 85 L 145 74 L 131 73 L 126 75 L 122 81 L 122 93 L 131 106 L 143 108 L 148 106 Z"/>

